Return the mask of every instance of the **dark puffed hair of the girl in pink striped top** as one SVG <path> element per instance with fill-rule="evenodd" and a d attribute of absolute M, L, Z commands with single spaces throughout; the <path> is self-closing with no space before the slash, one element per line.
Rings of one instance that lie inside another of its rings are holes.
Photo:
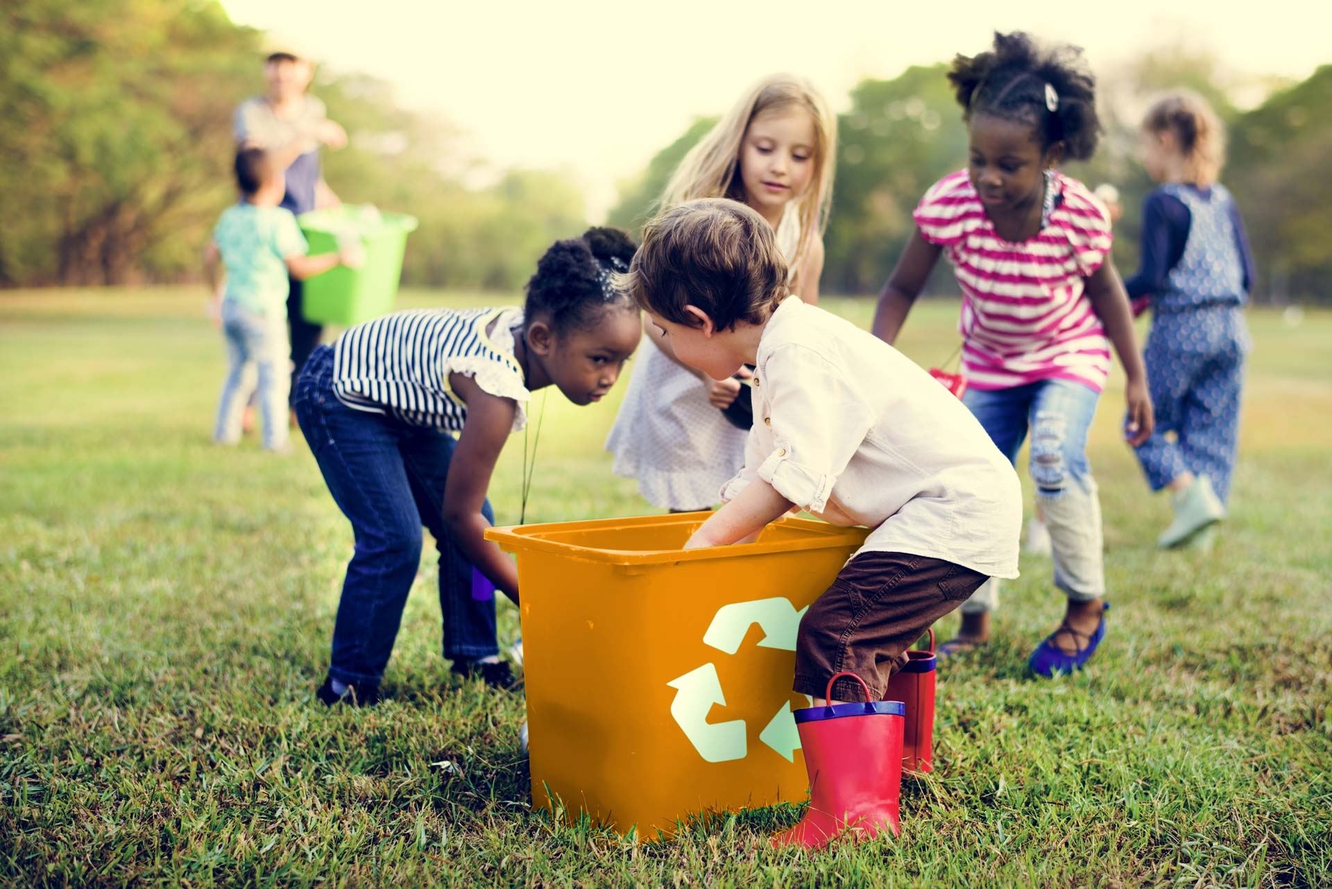
<path fill-rule="evenodd" d="M 1096 79 L 1078 47 L 1042 47 L 1020 31 L 995 32 L 994 49 L 952 60 L 948 81 L 963 120 L 992 114 L 1030 124 L 1043 149 L 1063 142 L 1064 156 L 1075 161 L 1096 152 Z M 1055 110 L 1047 105 L 1047 85 L 1058 97 Z"/>

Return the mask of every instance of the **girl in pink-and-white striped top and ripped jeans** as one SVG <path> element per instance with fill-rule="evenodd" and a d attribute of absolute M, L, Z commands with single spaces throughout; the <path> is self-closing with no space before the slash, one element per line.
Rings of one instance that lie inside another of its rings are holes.
<path fill-rule="evenodd" d="M 1095 84 L 1071 47 L 995 35 L 994 51 L 958 56 L 948 80 L 970 134 L 970 165 L 926 192 L 916 230 L 883 287 L 874 331 L 896 339 L 946 253 L 962 287 L 963 403 L 1010 460 L 1031 433 L 1031 478 L 1050 530 L 1055 586 L 1068 596 L 1059 628 L 1032 652 L 1042 676 L 1080 668 L 1104 632 L 1100 502 L 1087 429 L 1110 371 L 1106 338 L 1124 366 L 1126 435 L 1142 444 L 1152 409 L 1128 298 L 1110 260 L 1110 221 L 1066 157 L 1096 148 Z M 962 607 L 942 651 L 990 637 L 998 582 Z"/>

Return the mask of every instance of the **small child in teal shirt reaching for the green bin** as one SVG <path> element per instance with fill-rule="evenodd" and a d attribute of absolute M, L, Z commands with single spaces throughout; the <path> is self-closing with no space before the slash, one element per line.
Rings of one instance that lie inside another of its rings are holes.
<path fill-rule="evenodd" d="M 241 201 L 222 210 L 204 256 L 214 317 L 226 335 L 230 359 L 213 441 L 218 444 L 240 441 L 240 414 L 246 398 L 241 381 L 246 365 L 253 363 L 258 370 L 264 447 L 285 451 L 286 366 L 292 354 L 285 330 L 288 278 L 309 278 L 357 257 L 305 256 L 308 245 L 296 217 L 278 206 L 286 189 L 282 172 L 262 149 L 244 148 L 236 153 L 236 182 Z M 226 266 L 225 289 L 218 286 L 218 257 Z"/>

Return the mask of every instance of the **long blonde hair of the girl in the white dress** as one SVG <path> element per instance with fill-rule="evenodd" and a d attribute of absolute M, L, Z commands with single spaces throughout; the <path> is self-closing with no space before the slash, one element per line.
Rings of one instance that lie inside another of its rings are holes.
<path fill-rule="evenodd" d="M 745 202 L 741 180 L 741 146 L 750 122 L 759 114 L 803 108 L 814 121 L 814 174 L 805 193 L 795 198 L 801 241 L 789 257 L 799 283 L 801 266 L 817 238 L 827 228 L 832 204 L 832 174 L 836 168 L 836 116 L 810 81 L 794 75 L 769 75 L 755 83 L 726 116 L 717 121 L 702 141 L 690 149 L 666 184 L 659 209 L 665 210 L 699 197 L 729 197 Z"/>

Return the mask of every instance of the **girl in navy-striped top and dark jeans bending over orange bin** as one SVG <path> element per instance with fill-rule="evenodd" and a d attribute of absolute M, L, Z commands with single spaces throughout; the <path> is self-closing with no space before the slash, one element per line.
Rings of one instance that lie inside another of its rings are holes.
<path fill-rule="evenodd" d="M 494 598 L 473 595 L 476 566 L 518 602 L 513 562 L 482 538 L 493 520 L 486 488 L 509 434 L 526 425 L 531 391 L 554 385 L 587 405 L 615 383 L 641 326 L 610 279 L 633 256 L 622 232 L 589 229 L 546 250 L 522 311 L 398 311 L 310 355 L 296 415 L 356 534 L 321 701 L 378 700 L 421 526 L 440 551 L 444 656 L 457 673 L 510 684 Z"/>

